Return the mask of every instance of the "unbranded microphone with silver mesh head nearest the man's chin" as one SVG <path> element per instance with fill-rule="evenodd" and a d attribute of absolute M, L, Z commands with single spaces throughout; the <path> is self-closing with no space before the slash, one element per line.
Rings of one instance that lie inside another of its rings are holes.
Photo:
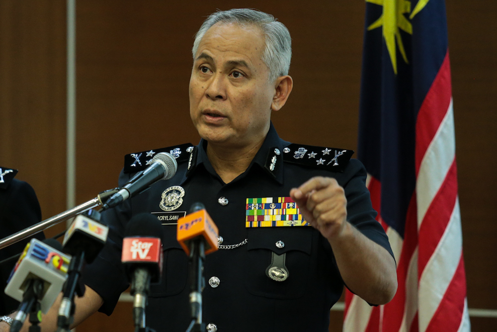
<path fill-rule="evenodd" d="M 178 164 L 176 159 L 167 152 L 160 152 L 151 159 L 152 164 L 143 172 L 138 172 L 122 189 L 112 195 L 102 209 L 113 208 L 119 203 L 147 190 L 159 180 L 170 179 L 176 174 Z"/>

